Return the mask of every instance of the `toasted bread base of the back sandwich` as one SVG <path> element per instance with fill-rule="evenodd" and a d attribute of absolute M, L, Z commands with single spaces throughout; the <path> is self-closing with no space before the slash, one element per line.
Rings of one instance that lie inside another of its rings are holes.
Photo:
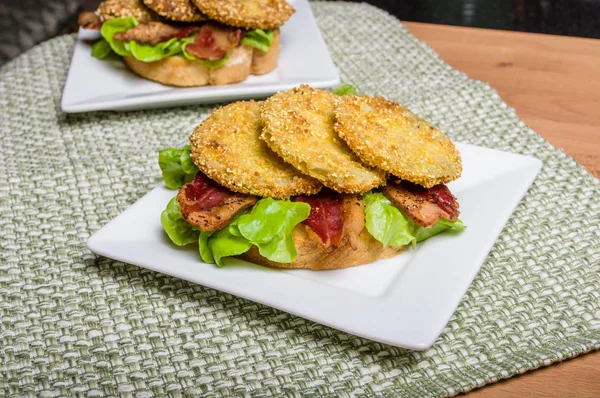
<path fill-rule="evenodd" d="M 124 57 L 125 64 L 139 76 L 167 86 L 195 87 L 223 85 L 244 81 L 250 74 L 271 72 L 279 56 L 279 31 L 273 37 L 266 53 L 240 45 L 231 51 L 229 61 L 220 68 L 210 69 L 200 61 L 190 61 L 175 55 L 156 62 L 142 62 L 134 57 Z"/>

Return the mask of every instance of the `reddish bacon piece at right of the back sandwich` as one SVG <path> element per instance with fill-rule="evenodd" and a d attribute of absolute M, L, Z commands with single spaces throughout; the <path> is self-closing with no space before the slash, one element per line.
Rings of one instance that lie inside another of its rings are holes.
<path fill-rule="evenodd" d="M 214 61 L 225 57 L 229 50 L 239 46 L 242 36 L 241 29 L 206 23 L 185 50 L 196 58 Z"/>

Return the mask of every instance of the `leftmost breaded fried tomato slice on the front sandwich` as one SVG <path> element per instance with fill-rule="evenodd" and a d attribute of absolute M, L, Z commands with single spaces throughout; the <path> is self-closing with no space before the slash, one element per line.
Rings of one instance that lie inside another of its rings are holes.
<path fill-rule="evenodd" d="M 319 192 L 321 184 L 285 163 L 258 139 L 260 102 L 215 109 L 190 137 L 192 160 L 232 191 L 275 199 Z"/>

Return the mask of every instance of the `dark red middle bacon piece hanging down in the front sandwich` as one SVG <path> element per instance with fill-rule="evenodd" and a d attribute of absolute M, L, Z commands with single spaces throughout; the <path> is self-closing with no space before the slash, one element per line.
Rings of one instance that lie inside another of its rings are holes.
<path fill-rule="evenodd" d="M 322 191 L 314 196 L 297 196 L 296 201 L 310 205 L 310 214 L 304 224 L 313 230 L 321 243 L 326 248 L 336 245 L 342 237 L 344 227 L 342 195 Z"/>

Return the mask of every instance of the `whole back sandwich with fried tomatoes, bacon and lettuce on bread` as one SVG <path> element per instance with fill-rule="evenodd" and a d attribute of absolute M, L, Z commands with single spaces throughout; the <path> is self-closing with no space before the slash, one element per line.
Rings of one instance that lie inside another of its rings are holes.
<path fill-rule="evenodd" d="M 141 77 L 189 87 L 271 72 L 293 13 L 285 0 L 105 0 L 78 22 L 100 30 L 94 57 L 114 54 Z"/>

